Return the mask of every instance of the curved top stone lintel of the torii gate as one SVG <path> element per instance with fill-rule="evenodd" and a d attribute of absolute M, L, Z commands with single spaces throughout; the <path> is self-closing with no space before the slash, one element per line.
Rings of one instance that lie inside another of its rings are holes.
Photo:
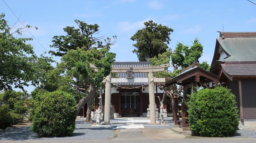
<path fill-rule="evenodd" d="M 149 66 L 149 67 L 112 67 L 112 73 L 126 73 L 127 70 L 132 70 L 134 73 L 148 73 L 148 72 L 160 72 L 164 71 L 164 68 L 168 68 L 170 63 L 162 64 L 158 66 Z M 98 68 L 93 64 L 90 64 L 90 68 L 94 68 L 95 72 L 98 72 Z"/>

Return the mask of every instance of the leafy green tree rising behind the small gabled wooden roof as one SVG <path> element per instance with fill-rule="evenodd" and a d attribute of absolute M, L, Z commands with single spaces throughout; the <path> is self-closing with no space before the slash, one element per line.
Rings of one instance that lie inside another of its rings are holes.
<path fill-rule="evenodd" d="M 150 58 L 148 61 L 151 62 L 151 65 L 161 65 L 168 63 L 172 59 L 172 68 L 173 70 L 165 69 L 164 72 L 154 73 L 156 77 L 165 77 L 167 80 L 175 77 L 180 74 L 180 68 L 185 68 L 191 65 L 194 61 L 198 61 L 203 53 L 203 46 L 196 38 L 193 42 L 193 45 L 188 48 L 188 46 L 184 46 L 182 43 L 178 43 L 174 52 L 171 49 L 168 49 L 163 54 L 158 54 L 158 57 Z M 210 66 L 207 62 L 202 62 L 200 64 L 201 68 L 208 70 Z M 174 102 L 180 97 L 181 92 L 183 91 L 182 86 L 171 85 L 169 87 L 164 87 L 164 83 L 158 84 L 159 88 L 163 88 L 165 94 L 171 98 L 172 103 L 172 112 L 174 112 Z"/>

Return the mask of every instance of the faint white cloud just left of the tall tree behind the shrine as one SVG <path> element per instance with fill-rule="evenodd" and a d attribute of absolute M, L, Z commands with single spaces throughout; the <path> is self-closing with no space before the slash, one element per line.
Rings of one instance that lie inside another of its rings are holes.
<path fill-rule="evenodd" d="M 129 21 L 119 22 L 117 23 L 117 29 L 120 32 L 129 32 L 129 31 L 139 30 L 145 26 L 144 22 L 146 21 L 149 21 L 149 19 L 144 19 L 137 22 L 129 22 Z"/>

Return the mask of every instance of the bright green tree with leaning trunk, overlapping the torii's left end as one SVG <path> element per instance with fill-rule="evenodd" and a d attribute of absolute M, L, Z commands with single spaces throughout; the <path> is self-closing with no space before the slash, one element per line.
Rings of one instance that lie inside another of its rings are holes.
<path fill-rule="evenodd" d="M 108 48 L 91 50 L 84 48 L 77 47 L 76 50 L 69 50 L 66 55 L 62 56 L 61 62 L 58 65 L 59 68 L 65 69 L 63 74 L 68 75 L 73 80 L 72 83 L 74 84 L 71 84 L 71 86 L 88 94 L 79 100 L 77 104 L 78 112 L 84 104 L 92 101 L 92 97 L 102 84 L 104 77 L 109 75 L 112 62 L 115 61 L 114 58 L 116 57 L 116 54 L 108 52 Z M 90 68 L 90 63 L 98 68 L 98 72 L 94 72 L 94 69 Z M 86 122 L 90 122 L 91 119 L 91 105 L 88 104 Z"/>

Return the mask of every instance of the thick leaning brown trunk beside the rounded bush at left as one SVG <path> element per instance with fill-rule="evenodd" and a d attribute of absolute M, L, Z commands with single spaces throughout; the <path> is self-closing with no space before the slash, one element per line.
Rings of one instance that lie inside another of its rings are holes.
<path fill-rule="evenodd" d="M 77 112 L 76 115 L 78 115 L 79 111 L 84 107 L 84 105 L 89 102 L 89 100 L 92 100 L 92 97 L 96 93 L 97 88 L 94 87 L 94 84 L 90 83 L 89 87 L 89 93 L 86 97 L 83 97 L 82 99 L 79 100 L 79 103 L 77 104 Z"/>

